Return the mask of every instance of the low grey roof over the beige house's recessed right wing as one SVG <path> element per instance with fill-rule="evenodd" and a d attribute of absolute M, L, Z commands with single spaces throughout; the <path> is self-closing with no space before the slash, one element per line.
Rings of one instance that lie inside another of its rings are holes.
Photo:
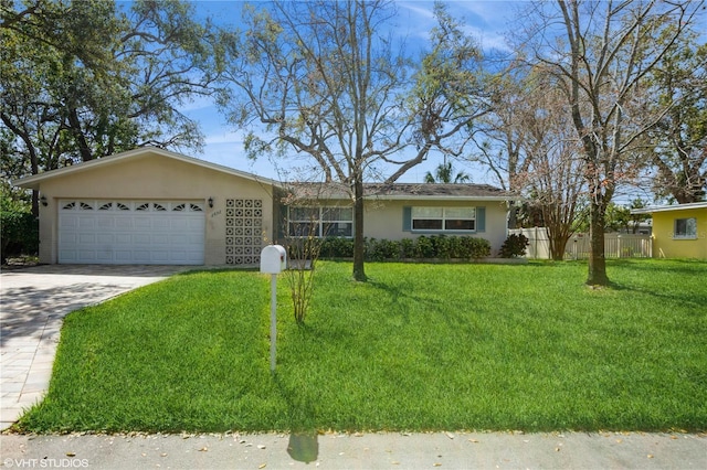
<path fill-rule="evenodd" d="M 351 190 L 342 183 L 289 183 L 286 185 L 295 200 L 350 199 Z M 378 200 L 460 200 L 513 201 L 517 194 L 488 184 L 437 183 L 365 183 L 363 196 Z"/>

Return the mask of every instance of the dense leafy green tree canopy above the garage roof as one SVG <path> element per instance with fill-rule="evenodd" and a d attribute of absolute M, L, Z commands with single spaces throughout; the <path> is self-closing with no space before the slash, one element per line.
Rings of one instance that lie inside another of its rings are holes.
<path fill-rule="evenodd" d="M 112 0 L 22 0 L 1 9 L 0 118 L 15 170 L 202 145 L 179 108 L 212 92 L 220 55 L 189 3 L 139 0 L 123 11 Z"/>

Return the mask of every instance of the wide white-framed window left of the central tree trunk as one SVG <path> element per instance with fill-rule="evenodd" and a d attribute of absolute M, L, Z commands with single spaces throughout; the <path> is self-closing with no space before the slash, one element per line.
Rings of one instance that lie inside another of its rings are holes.
<path fill-rule="evenodd" d="M 352 207 L 289 207 L 289 236 L 354 236 Z"/>

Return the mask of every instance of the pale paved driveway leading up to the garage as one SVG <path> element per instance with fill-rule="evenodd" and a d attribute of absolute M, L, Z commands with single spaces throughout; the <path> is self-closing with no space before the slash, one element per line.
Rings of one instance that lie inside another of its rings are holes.
<path fill-rule="evenodd" d="M 0 429 L 49 387 L 62 319 L 193 266 L 45 265 L 0 274 Z"/>

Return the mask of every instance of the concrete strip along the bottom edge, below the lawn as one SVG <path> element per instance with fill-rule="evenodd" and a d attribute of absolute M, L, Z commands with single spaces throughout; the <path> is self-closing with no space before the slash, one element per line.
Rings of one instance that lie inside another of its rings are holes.
<path fill-rule="evenodd" d="M 706 469 L 707 436 L 327 434 L 0 437 L 2 468 Z"/>

